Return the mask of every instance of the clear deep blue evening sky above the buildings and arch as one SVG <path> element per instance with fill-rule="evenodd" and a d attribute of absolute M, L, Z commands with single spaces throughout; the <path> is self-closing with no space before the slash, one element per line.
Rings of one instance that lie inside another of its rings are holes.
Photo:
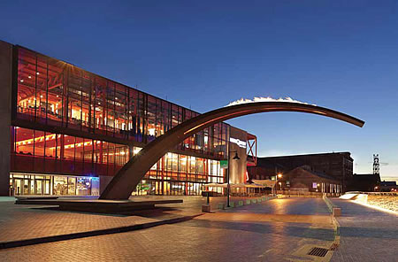
<path fill-rule="evenodd" d="M 0 39 L 207 112 L 291 96 L 364 119 L 275 112 L 230 120 L 259 155 L 350 151 L 398 177 L 396 1 L 3 1 Z M 217 2 L 217 3 L 215 3 Z"/>

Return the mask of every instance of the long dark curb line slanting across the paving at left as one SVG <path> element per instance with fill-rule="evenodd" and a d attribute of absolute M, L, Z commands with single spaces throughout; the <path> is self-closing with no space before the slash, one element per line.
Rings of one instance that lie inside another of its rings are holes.
<path fill-rule="evenodd" d="M 24 240 L 2 242 L 2 243 L 0 243 L 0 250 L 22 247 L 22 246 L 27 246 L 27 245 L 34 245 L 34 244 L 39 244 L 39 243 L 52 243 L 52 242 L 71 240 L 71 239 L 77 239 L 77 238 L 83 238 L 83 237 L 89 237 L 89 236 L 110 235 L 110 234 L 130 232 L 130 231 L 145 229 L 145 228 L 149 228 L 149 227 L 157 227 L 157 226 L 166 225 L 166 224 L 180 223 L 180 222 L 192 220 L 195 217 L 198 217 L 201 215 L 203 215 L 203 213 L 196 214 L 193 216 L 185 216 L 185 217 L 170 219 L 170 220 L 160 220 L 160 221 L 149 222 L 149 223 L 144 223 L 144 224 L 137 224 L 137 225 L 133 225 L 133 226 L 112 227 L 112 228 L 98 229 L 98 230 L 93 230 L 93 231 L 86 231 L 86 232 L 79 232 L 79 233 L 72 233 L 72 234 L 65 234 L 65 235 L 51 235 L 51 236 L 43 236 L 43 237 L 30 238 L 30 239 L 24 239 Z"/>

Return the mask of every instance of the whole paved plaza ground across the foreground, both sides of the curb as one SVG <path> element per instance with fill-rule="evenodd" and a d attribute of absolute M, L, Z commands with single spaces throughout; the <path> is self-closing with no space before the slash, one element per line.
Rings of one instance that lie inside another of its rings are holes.
<path fill-rule="evenodd" d="M 154 197 L 140 197 L 148 198 Z M 59 212 L 4 201 L 0 237 L 4 242 L 201 214 L 204 197 L 180 198 L 184 204 L 165 204 L 128 216 Z M 224 200 L 211 199 L 214 205 Z M 333 199 L 333 203 L 343 210 L 338 219 L 341 237 L 336 236 L 321 198 L 286 197 L 175 224 L 4 249 L 0 261 L 394 261 L 396 216 L 348 201 Z M 330 249 L 336 240 L 340 246 L 325 258 L 307 255 L 313 247 Z"/>

